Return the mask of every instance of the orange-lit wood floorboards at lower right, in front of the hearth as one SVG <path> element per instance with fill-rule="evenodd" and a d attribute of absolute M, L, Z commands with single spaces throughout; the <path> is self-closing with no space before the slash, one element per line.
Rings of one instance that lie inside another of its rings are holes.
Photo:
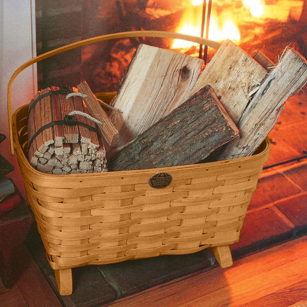
<path fill-rule="evenodd" d="M 307 237 L 108 304 L 112 307 L 287 307 L 306 299 Z M 105 305 L 107 306 L 107 305 Z"/>

